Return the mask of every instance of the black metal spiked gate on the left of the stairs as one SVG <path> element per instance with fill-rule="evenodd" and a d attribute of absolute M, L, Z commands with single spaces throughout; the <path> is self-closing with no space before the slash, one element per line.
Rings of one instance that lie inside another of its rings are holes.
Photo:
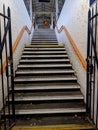
<path fill-rule="evenodd" d="M 4 20 L 4 28 L 1 23 L 1 18 Z M 1 30 L 3 29 L 3 30 Z M 2 31 L 4 34 L 2 34 Z M 10 8 L 7 9 L 7 15 L 5 15 L 5 6 L 3 5 L 3 13 L 0 13 L 0 61 L 1 66 L 3 65 L 3 53 L 6 57 L 6 76 L 1 73 L 1 86 L 2 86 L 2 113 L 1 120 L 3 119 L 2 127 L 3 130 L 8 130 L 15 124 L 15 104 L 14 104 L 14 70 L 13 70 L 13 54 L 12 54 L 12 33 L 11 33 L 11 13 Z M 8 63 L 9 61 L 9 63 Z M 1 67 L 1 72 L 3 69 Z M 6 78 L 6 80 L 5 80 Z M 7 97 L 6 97 L 6 90 Z M 10 91 L 11 88 L 11 91 Z M 11 96 L 12 104 L 6 104 L 7 99 L 9 101 Z M 8 115 L 8 116 L 7 116 Z"/>

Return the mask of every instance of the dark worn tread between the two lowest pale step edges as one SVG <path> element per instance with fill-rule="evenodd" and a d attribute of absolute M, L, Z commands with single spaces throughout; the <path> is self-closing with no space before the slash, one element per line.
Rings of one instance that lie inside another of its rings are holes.
<path fill-rule="evenodd" d="M 57 100 L 55 102 L 34 102 L 34 103 L 25 103 L 25 104 L 16 104 L 16 109 L 55 109 L 55 108 L 85 108 L 85 103 L 83 100 L 70 100 L 68 101 L 60 101 Z"/>

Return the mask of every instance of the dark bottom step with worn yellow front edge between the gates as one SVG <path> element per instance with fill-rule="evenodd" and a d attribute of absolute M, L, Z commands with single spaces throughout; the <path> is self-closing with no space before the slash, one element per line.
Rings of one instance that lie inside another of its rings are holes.
<path fill-rule="evenodd" d="M 94 125 L 86 116 L 22 116 L 16 118 L 16 126 L 12 130 L 88 130 Z"/>

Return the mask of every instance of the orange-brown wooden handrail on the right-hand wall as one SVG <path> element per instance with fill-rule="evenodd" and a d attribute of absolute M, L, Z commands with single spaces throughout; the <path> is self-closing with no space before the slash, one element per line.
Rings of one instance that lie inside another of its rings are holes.
<path fill-rule="evenodd" d="M 82 63 L 83 68 L 86 70 L 86 69 L 87 69 L 87 64 L 86 64 L 85 60 L 83 59 L 81 53 L 79 52 L 79 50 L 78 50 L 78 48 L 77 48 L 77 46 L 76 46 L 74 40 L 72 39 L 70 33 L 68 32 L 67 28 L 66 28 L 64 25 L 62 25 L 62 26 L 60 27 L 60 29 L 58 29 L 58 26 L 57 26 L 57 23 L 56 23 L 56 22 L 55 22 L 55 26 L 56 26 L 56 29 L 57 29 L 57 32 L 58 32 L 58 33 L 62 32 L 62 30 L 64 30 L 64 32 L 66 33 L 66 36 L 67 36 L 67 38 L 69 39 L 69 41 L 70 41 L 70 43 L 71 43 L 71 45 L 72 45 L 72 47 L 73 47 L 75 53 L 77 54 L 77 56 L 78 56 L 80 62 Z"/>

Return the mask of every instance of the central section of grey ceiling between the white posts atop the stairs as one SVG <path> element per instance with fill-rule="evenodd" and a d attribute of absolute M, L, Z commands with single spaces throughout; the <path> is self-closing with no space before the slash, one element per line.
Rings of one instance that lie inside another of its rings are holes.
<path fill-rule="evenodd" d="M 55 0 L 50 2 L 39 2 L 33 0 L 33 14 L 35 14 L 36 23 L 42 25 L 44 21 L 51 20 L 51 13 L 55 12 Z"/>

